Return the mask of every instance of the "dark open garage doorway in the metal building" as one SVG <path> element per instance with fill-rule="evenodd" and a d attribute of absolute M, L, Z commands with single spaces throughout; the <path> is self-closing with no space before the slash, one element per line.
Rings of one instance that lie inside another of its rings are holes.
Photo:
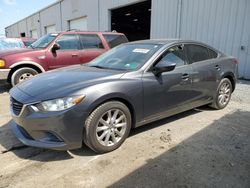
<path fill-rule="evenodd" d="M 111 30 L 129 41 L 150 38 L 151 0 L 111 10 Z"/>

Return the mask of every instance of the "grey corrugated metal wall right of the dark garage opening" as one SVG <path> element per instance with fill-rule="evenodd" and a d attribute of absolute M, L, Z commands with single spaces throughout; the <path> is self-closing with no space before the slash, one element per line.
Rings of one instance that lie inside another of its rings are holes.
<path fill-rule="evenodd" d="M 151 38 L 205 42 L 240 61 L 250 79 L 249 0 L 153 0 Z"/>

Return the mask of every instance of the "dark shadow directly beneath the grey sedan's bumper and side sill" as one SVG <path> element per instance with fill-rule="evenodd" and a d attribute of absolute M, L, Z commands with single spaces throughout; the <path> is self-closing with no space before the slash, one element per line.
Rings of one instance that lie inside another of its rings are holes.
<path fill-rule="evenodd" d="M 199 109 L 190 110 L 187 112 L 183 112 L 181 114 L 165 118 L 163 120 L 156 121 L 154 123 L 150 123 L 146 126 L 141 126 L 131 131 L 130 136 L 134 136 L 140 134 L 144 131 L 148 131 L 150 129 L 157 128 L 158 126 L 164 125 L 166 123 L 175 121 L 177 119 L 184 118 L 186 116 L 199 113 L 201 110 L 210 110 L 210 108 L 202 107 Z M 13 152 L 20 158 L 30 159 L 36 161 L 57 161 L 57 160 L 67 160 L 72 158 L 73 155 L 77 156 L 95 156 L 96 153 L 90 150 L 87 146 L 83 145 L 82 148 L 67 151 L 54 151 L 48 149 L 40 149 L 23 145 L 12 133 L 9 122 L 0 127 L 0 145 L 2 146 L 2 151 L 0 151 L 0 155 L 5 154 L 7 152 Z"/>

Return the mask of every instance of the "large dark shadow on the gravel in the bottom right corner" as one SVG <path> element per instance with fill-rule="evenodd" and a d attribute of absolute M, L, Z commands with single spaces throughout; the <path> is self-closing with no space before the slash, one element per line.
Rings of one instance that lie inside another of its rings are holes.
<path fill-rule="evenodd" d="M 249 111 L 227 114 L 110 187 L 248 188 L 249 122 Z"/>

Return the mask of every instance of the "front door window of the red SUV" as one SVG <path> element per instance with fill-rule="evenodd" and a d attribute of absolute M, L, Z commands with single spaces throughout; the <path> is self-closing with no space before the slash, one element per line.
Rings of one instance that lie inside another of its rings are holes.
<path fill-rule="evenodd" d="M 60 45 L 60 50 L 77 50 L 79 49 L 79 40 L 77 35 L 63 35 L 58 40 L 57 43 Z"/>

